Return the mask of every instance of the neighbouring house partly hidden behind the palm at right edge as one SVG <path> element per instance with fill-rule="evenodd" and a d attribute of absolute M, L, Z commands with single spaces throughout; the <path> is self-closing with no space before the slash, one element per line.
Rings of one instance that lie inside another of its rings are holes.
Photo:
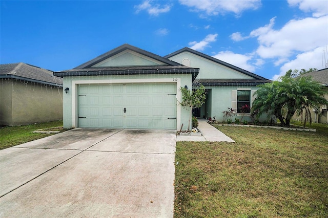
<path fill-rule="evenodd" d="M 328 90 L 328 68 L 321 69 L 318 71 L 312 71 L 303 74 L 301 76 L 311 76 L 314 80 L 320 82 L 324 86 L 323 89 Z M 312 122 L 328 124 L 328 116 L 327 116 L 328 94 L 325 95 L 325 99 L 327 99 L 327 104 L 322 105 L 320 108 L 312 108 L 312 112 L 311 112 Z M 297 116 L 295 114 L 293 116 L 293 119 L 301 121 L 302 117 Z"/>

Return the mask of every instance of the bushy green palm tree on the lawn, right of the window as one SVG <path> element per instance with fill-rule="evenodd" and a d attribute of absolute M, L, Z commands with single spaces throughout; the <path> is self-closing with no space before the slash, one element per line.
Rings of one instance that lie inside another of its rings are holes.
<path fill-rule="evenodd" d="M 267 113 L 268 119 L 274 115 L 281 125 L 289 126 L 295 112 L 301 114 L 305 110 L 303 125 L 305 126 L 308 119 L 311 123 L 310 109 L 327 104 L 324 98 L 326 91 L 322 89 L 322 85 L 308 76 L 296 78 L 283 76 L 281 79 L 281 82 L 273 81 L 260 85 L 254 93 L 256 98 L 252 105 L 252 112 L 258 110 L 257 116 Z"/>

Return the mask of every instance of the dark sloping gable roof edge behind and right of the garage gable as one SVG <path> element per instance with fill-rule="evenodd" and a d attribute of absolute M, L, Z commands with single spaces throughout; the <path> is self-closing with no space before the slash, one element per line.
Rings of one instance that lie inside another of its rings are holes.
<path fill-rule="evenodd" d="M 243 73 L 243 74 L 245 74 L 245 75 L 251 76 L 251 77 L 253 77 L 254 79 L 264 79 L 264 80 L 268 80 L 267 78 L 264 78 L 264 77 L 261 77 L 261 76 L 259 76 L 259 75 L 254 74 L 254 73 L 251 73 L 251 72 L 249 72 L 249 71 L 243 70 L 243 69 L 241 69 L 241 68 L 238 68 L 238 67 L 236 67 L 236 66 L 233 66 L 233 65 L 230 64 L 230 63 L 224 62 L 224 61 L 219 60 L 219 59 L 217 59 L 217 58 L 214 58 L 214 57 L 211 57 L 211 56 L 209 56 L 209 55 L 203 54 L 203 53 L 201 53 L 201 52 L 195 51 L 195 50 L 190 49 L 190 48 L 188 48 L 188 47 L 185 47 L 185 48 L 180 49 L 180 50 L 178 50 L 178 51 L 176 51 L 176 52 L 173 52 L 173 53 L 171 53 L 171 54 L 169 54 L 169 55 L 166 55 L 165 58 L 173 57 L 173 56 L 175 56 L 175 55 L 177 55 L 177 54 L 180 54 L 180 53 L 182 53 L 182 52 L 190 52 L 190 53 L 192 53 L 192 54 L 198 55 L 198 56 L 200 56 L 200 57 L 203 57 L 203 58 L 206 58 L 206 59 L 211 60 L 211 61 L 213 61 L 213 62 L 216 62 L 216 63 L 218 63 L 218 64 L 221 64 L 222 66 L 225 66 L 225 67 L 231 68 L 231 69 L 233 69 L 233 70 L 235 70 L 235 71 L 238 71 L 238 72 Z"/>

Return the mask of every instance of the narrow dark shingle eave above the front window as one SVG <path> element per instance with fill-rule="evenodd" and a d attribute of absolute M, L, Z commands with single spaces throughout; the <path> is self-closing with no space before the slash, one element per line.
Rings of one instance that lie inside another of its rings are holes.
<path fill-rule="evenodd" d="M 203 85 L 260 85 L 272 82 L 269 79 L 199 79 Z"/>

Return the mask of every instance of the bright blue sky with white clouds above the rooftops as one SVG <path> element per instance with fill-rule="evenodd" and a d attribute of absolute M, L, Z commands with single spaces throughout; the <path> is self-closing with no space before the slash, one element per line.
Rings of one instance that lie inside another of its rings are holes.
<path fill-rule="evenodd" d="M 52 71 L 124 43 L 184 47 L 268 79 L 328 62 L 328 1 L 0 1 L 0 62 Z"/>

